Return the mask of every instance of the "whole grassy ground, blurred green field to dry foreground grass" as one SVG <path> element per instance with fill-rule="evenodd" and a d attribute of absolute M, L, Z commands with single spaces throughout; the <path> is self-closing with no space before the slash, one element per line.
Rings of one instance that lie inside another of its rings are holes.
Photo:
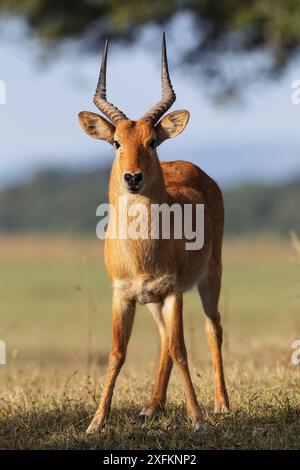
<path fill-rule="evenodd" d="M 139 308 L 100 436 L 84 429 L 95 410 L 110 347 L 110 287 L 101 243 L 90 239 L 0 238 L 0 448 L 299 448 L 300 266 L 289 242 L 230 240 L 224 249 L 221 313 L 232 413 L 213 414 L 213 383 L 196 293 L 185 300 L 193 380 L 210 424 L 186 421 L 173 373 L 166 413 L 141 423 L 158 355 L 158 335 Z"/>

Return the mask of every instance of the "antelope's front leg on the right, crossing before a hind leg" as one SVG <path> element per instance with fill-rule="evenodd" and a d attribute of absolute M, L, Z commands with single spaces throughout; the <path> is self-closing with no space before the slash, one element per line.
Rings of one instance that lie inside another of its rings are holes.
<path fill-rule="evenodd" d="M 174 363 L 179 368 L 183 380 L 188 414 L 194 427 L 199 429 L 203 423 L 203 419 L 188 367 L 187 352 L 183 335 L 182 294 L 173 293 L 165 299 L 163 305 L 163 317 L 166 324 L 169 351 Z"/>

